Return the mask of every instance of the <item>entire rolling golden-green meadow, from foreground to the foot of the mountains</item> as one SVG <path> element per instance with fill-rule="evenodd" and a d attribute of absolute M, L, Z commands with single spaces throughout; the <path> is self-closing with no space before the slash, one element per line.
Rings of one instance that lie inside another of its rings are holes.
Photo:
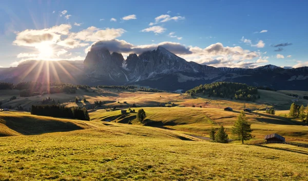
<path fill-rule="evenodd" d="M 87 107 L 104 101 L 102 108 L 118 109 L 89 110 L 91 121 L 0 112 L 0 180 L 308 180 L 308 149 L 253 145 L 270 133 L 308 143 L 308 126 L 285 118 L 293 97 L 282 92 L 259 90 L 261 99 L 253 103 L 203 95 L 93 89 L 44 97 L 66 106 Z M 0 93 L 3 105 L 29 107 L 44 98 L 17 97 L 6 102 L 16 93 Z M 88 102 L 76 104 L 75 97 Z M 138 107 L 132 108 L 133 103 Z M 171 107 L 158 107 L 160 103 Z M 244 103 L 253 109 L 246 116 L 254 140 L 241 145 L 201 139 L 208 137 L 211 127 L 220 125 L 231 136 L 230 128 Z M 224 111 L 227 106 L 234 111 Z M 128 107 L 136 112 L 143 108 L 146 120 L 139 122 L 136 113 L 121 114 L 119 109 Z M 266 107 L 275 107 L 276 115 L 265 114 Z"/>

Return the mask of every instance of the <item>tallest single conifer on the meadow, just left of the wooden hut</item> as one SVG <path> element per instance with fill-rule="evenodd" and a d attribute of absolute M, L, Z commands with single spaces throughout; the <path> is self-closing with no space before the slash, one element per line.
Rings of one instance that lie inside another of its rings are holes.
<path fill-rule="evenodd" d="M 244 144 L 244 140 L 253 138 L 251 124 L 247 122 L 245 112 L 242 111 L 238 116 L 234 127 L 232 127 L 232 134 L 235 140 L 242 140 L 242 144 Z"/>

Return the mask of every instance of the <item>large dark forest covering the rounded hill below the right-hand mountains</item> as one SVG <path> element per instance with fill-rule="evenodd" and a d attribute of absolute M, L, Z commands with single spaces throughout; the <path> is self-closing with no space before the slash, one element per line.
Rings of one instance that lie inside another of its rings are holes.
<path fill-rule="evenodd" d="M 201 84 L 186 91 L 186 94 L 190 95 L 199 93 L 208 95 L 208 97 L 214 96 L 245 101 L 255 101 L 256 99 L 260 98 L 258 95 L 258 89 L 256 87 L 234 82 L 214 82 L 204 85 Z"/>

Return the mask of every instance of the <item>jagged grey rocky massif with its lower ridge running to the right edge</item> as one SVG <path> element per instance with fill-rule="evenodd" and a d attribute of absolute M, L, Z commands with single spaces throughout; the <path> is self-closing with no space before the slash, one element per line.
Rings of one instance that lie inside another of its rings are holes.
<path fill-rule="evenodd" d="M 119 53 L 110 55 L 105 48 L 93 48 L 88 52 L 84 65 L 85 73 L 93 83 L 139 84 L 176 90 L 214 81 L 232 81 L 276 89 L 308 89 L 307 67 L 282 69 L 265 65 L 255 69 L 216 68 L 187 62 L 163 47 L 139 56 L 130 54 L 126 60 Z"/>

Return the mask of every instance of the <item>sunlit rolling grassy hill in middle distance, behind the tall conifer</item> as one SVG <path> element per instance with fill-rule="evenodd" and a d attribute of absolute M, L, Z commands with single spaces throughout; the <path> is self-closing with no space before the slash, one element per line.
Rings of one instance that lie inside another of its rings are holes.
<path fill-rule="evenodd" d="M 139 108 L 136 109 L 136 112 Z M 223 125 L 230 132 L 240 110 L 224 111 L 222 108 L 199 107 L 143 107 L 146 111 L 146 120 L 140 123 L 136 113 L 121 114 L 120 110 L 105 111 L 103 109 L 90 112 L 92 121 L 112 121 L 127 124 L 161 127 L 184 131 L 187 134 L 201 134 L 207 136 L 211 127 Z M 289 141 L 308 142 L 308 126 L 299 121 L 265 114 L 264 111 L 246 113 L 252 123 L 253 134 L 263 139 L 264 135 L 278 133 Z"/>

